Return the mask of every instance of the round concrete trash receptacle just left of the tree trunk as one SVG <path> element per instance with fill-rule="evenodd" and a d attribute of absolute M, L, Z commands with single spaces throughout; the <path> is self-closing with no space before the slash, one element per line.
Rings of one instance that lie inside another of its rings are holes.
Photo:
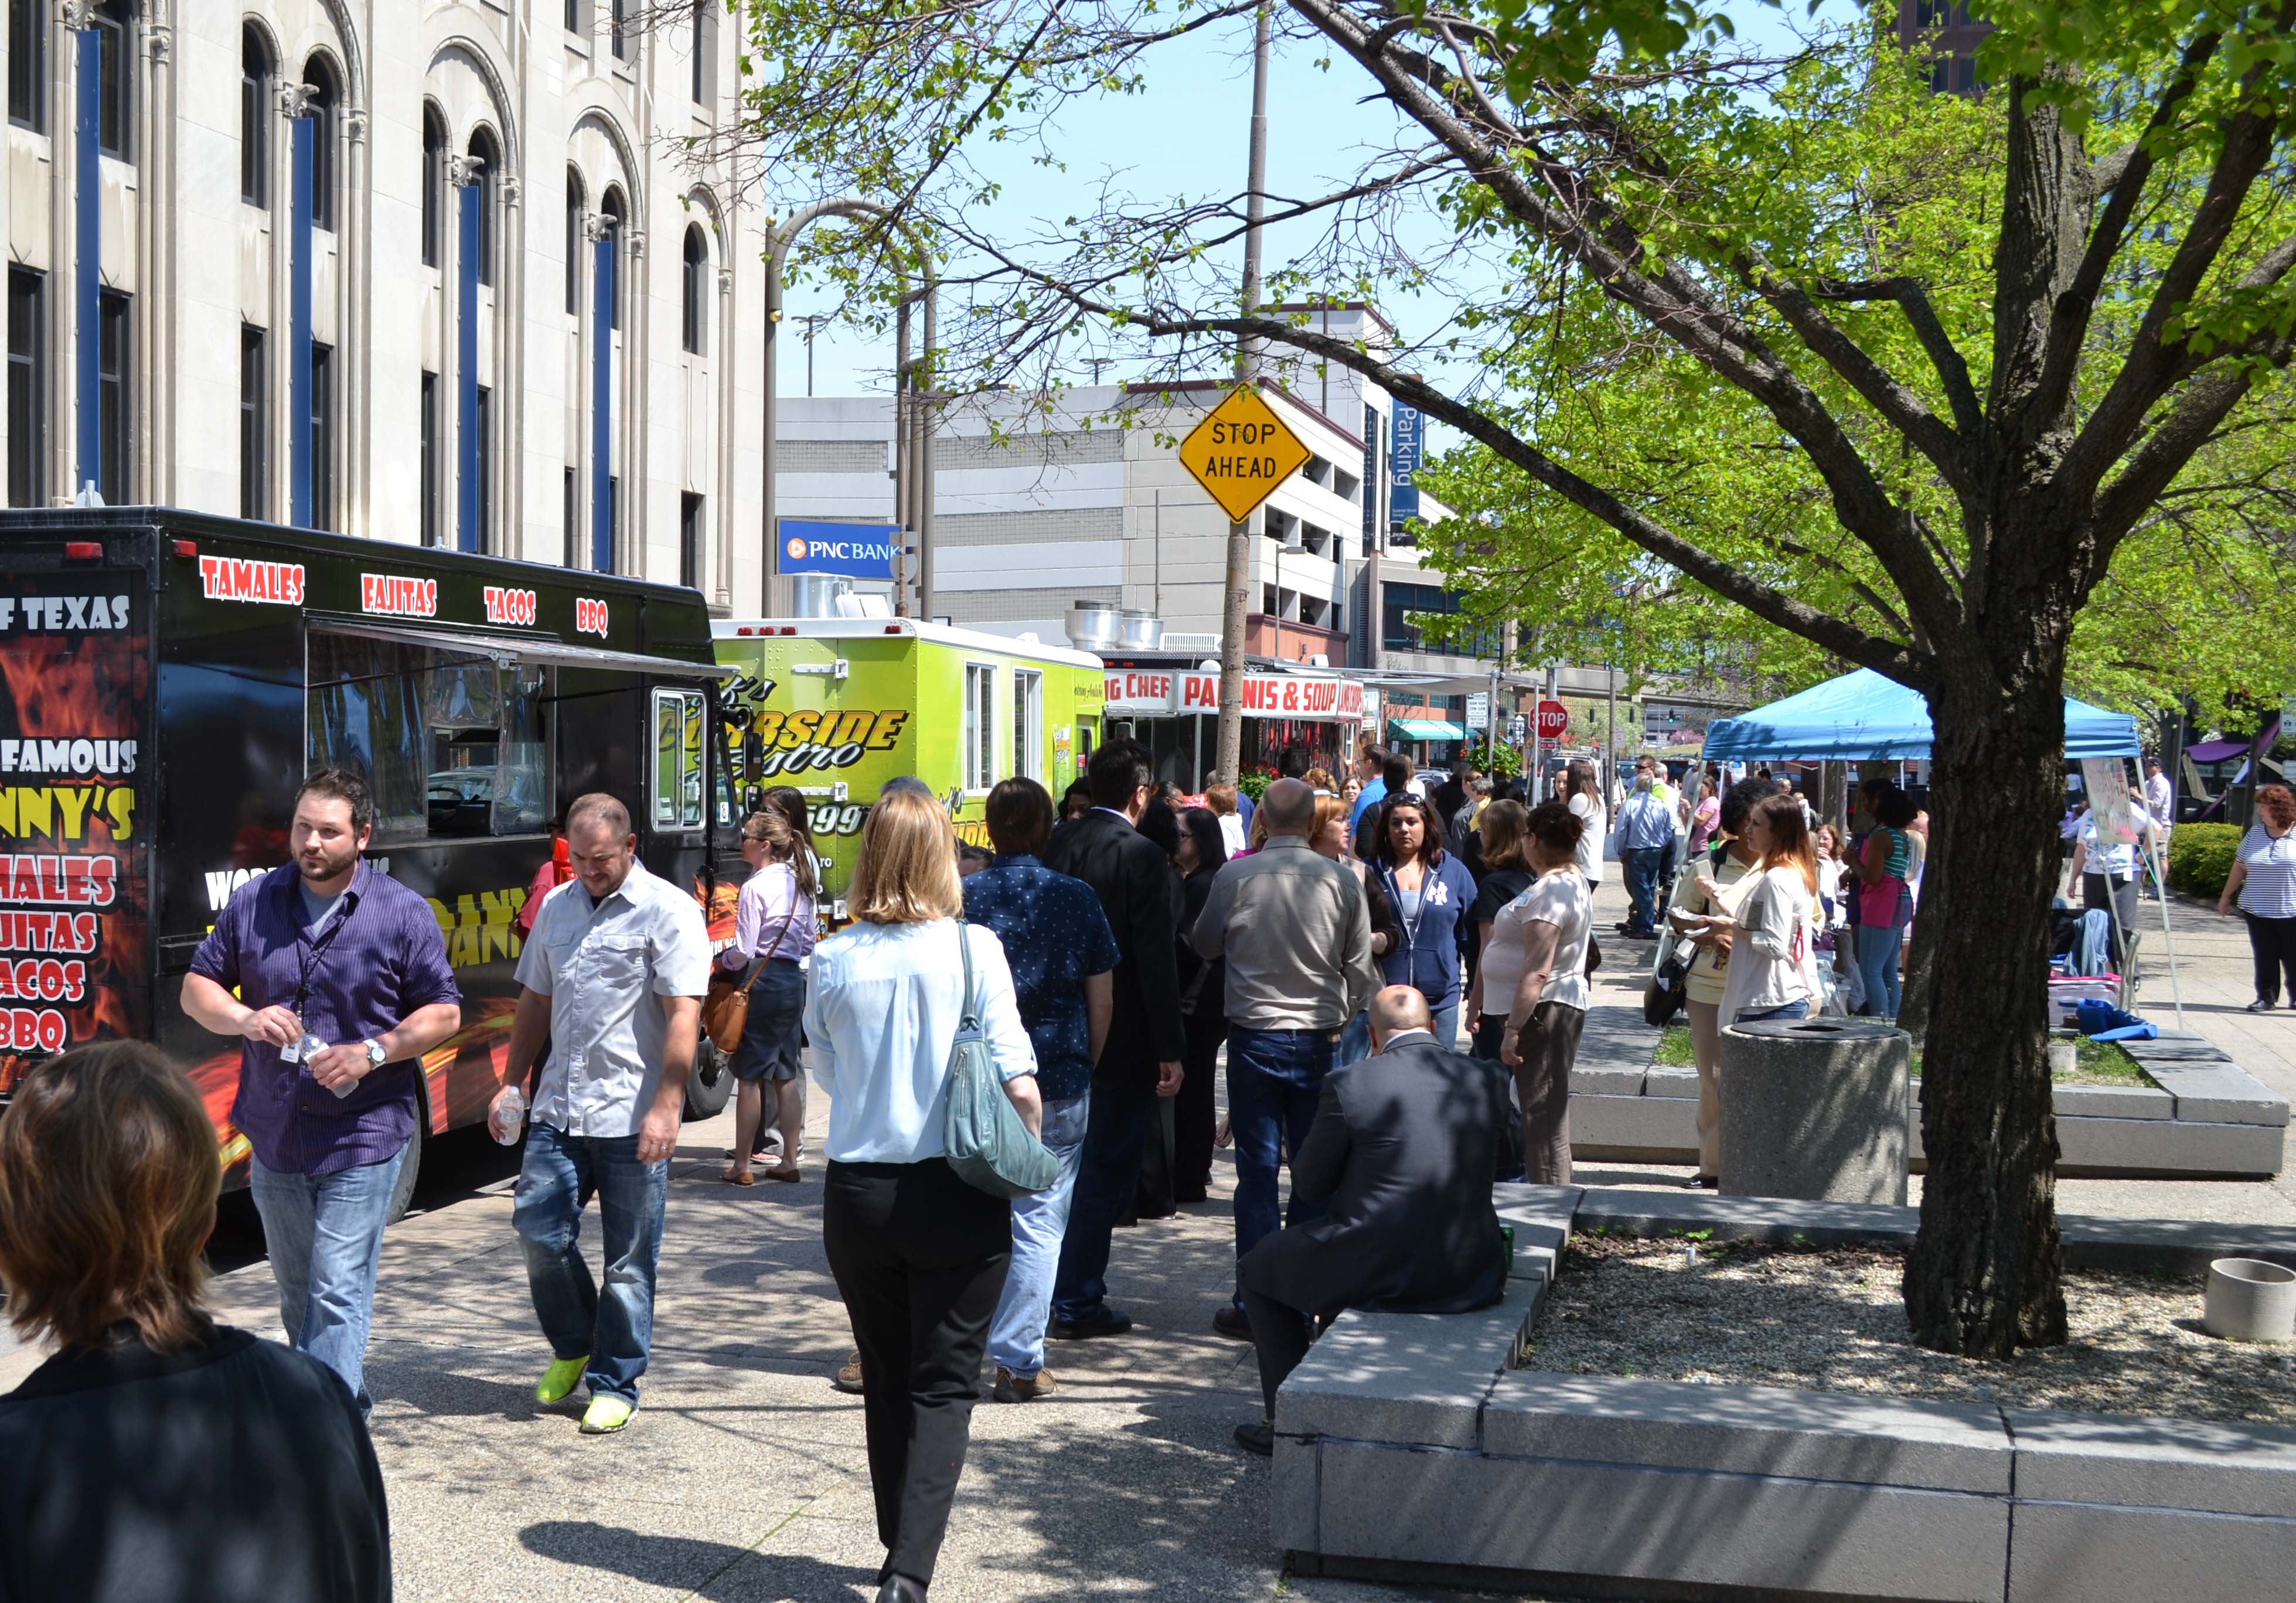
<path fill-rule="evenodd" d="M 1736 1197 L 1906 1206 L 1913 1038 L 1871 1020 L 1722 1031 L 1722 1176 Z"/>

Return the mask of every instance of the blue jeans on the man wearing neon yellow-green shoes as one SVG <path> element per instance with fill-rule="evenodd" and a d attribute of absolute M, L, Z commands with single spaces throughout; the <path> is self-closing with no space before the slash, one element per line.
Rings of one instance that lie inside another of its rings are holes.
<path fill-rule="evenodd" d="M 583 1192 L 597 1192 L 604 1291 L 581 1256 Z M 638 1401 L 638 1376 L 654 1339 L 654 1268 L 668 1194 L 670 1160 L 641 1164 L 634 1135 L 565 1135 L 540 1121 L 526 1132 L 510 1224 L 526 1249 L 526 1286 L 551 1357 L 588 1355 L 590 1396 Z"/>

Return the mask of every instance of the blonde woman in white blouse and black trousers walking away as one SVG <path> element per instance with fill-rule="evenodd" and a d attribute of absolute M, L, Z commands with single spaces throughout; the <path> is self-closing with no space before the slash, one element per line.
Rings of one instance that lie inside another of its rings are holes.
<path fill-rule="evenodd" d="M 1006 1095 L 1042 1116 L 1035 1050 L 1003 946 L 960 923 L 957 838 L 923 790 L 870 808 L 845 891 L 856 923 L 813 951 L 806 1040 L 829 1093 L 822 1245 L 861 1348 L 868 1474 L 877 1493 L 879 1603 L 932 1585 L 948 1530 L 990 1318 L 1013 1256 L 1013 1203 L 946 1162 L 948 1050 L 974 1001 Z M 914 1463 L 914 1468 L 912 1468 Z"/>

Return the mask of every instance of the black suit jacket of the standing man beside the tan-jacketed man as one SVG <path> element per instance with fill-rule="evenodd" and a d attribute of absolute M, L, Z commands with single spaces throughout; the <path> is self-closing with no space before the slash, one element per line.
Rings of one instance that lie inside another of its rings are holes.
<path fill-rule="evenodd" d="M 1155 1084 L 1157 1063 L 1187 1056 L 1180 1024 L 1180 875 L 1148 836 L 1093 808 L 1056 829 L 1045 866 L 1084 880 L 1116 932 L 1116 1010 L 1093 1084 Z"/>

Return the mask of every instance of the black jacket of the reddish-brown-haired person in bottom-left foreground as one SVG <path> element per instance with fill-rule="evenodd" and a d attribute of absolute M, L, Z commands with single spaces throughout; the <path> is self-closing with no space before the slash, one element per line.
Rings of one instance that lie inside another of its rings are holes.
<path fill-rule="evenodd" d="M 0 1399 L 0 1598 L 388 1596 L 383 1474 L 317 1360 L 218 1325 L 57 1353 Z"/>

